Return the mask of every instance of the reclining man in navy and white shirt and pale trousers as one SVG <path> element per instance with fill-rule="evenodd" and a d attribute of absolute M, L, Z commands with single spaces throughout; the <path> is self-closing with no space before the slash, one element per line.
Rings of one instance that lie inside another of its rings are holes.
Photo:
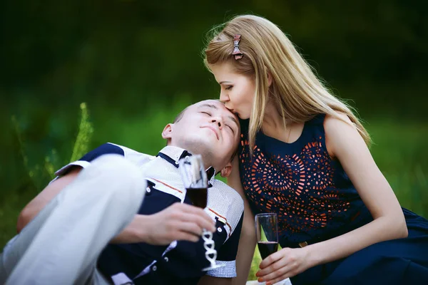
<path fill-rule="evenodd" d="M 21 212 L 21 232 L 0 259 L 0 283 L 3 270 L 6 284 L 228 284 L 243 200 L 213 176 L 230 174 L 239 135 L 236 116 L 205 100 L 166 125 L 167 146 L 156 157 L 107 143 L 61 168 Z M 178 171 L 191 154 L 209 166 L 205 212 L 188 205 Z M 214 232 L 225 264 L 206 275 L 203 228 Z"/>

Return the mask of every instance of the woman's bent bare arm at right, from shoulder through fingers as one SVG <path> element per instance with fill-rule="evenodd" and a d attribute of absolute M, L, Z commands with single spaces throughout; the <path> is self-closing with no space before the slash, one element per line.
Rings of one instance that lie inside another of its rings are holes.
<path fill-rule="evenodd" d="M 397 197 L 374 162 L 370 151 L 346 115 L 345 123 L 327 116 L 324 122 L 327 150 L 340 160 L 373 221 L 325 242 L 302 249 L 282 249 L 261 264 L 258 276 L 275 283 L 306 269 L 347 257 L 371 244 L 407 237 L 407 226 Z"/>

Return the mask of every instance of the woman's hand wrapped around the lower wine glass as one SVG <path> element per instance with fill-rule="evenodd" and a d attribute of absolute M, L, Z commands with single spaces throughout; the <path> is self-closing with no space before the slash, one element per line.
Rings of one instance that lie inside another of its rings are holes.
<path fill-rule="evenodd" d="M 263 259 L 255 276 L 258 276 L 259 282 L 265 281 L 266 285 L 275 284 L 314 266 L 308 257 L 307 247 L 298 249 L 285 247 Z"/>

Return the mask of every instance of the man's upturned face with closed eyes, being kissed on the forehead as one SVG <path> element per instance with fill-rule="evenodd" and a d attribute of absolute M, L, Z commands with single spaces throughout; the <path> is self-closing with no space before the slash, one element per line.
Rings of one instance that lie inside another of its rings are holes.
<path fill-rule="evenodd" d="M 239 137 L 238 118 L 217 100 L 190 105 L 178 122 L 168 124 L 163 131 L 169 145 L 202 155 L 205 166 L 218 171 L 230 162 Z"/>

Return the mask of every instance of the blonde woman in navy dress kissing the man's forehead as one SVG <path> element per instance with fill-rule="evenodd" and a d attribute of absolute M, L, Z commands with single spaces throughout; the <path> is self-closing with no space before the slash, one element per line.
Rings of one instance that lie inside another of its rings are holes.
<path fill-rule="evenodd" d="M 365 128 L 280 28 L 236 16 L 213 29 L 205 65 L 243 133 L 228 180 L 246 198 L 241 280 L 255 247 L 253 214 L 276 212 L 282 249 L 261 262 L 259 281 L 428 284 L 427 219 L 400 207 Z"/>

